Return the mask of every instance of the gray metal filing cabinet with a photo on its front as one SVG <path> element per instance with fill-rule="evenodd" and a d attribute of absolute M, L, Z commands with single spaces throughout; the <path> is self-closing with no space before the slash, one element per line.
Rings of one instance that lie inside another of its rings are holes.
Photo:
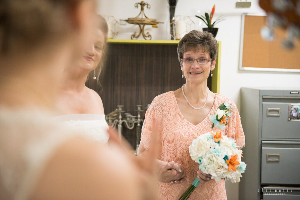
<path fill-rule="evenodd" d="M 300 88 L 241 88 L 246 171 L 239 199 L 300 199 Z M 292 115 L 294 116 L 294 115 Z"/>

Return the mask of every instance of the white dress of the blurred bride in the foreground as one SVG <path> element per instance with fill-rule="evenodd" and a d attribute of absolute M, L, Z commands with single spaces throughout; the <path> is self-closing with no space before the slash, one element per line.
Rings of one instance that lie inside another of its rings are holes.
<path fill-rule="evenodd" d="M 41 108 L 0 105 L 0 199 L 26 200 L 56 149 L 78 137 Z"/>

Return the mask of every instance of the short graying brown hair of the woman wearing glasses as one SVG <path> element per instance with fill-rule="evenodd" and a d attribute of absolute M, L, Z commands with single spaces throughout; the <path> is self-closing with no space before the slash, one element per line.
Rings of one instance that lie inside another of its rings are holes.
<path fill-rule="evenodd" d="M 185 34 L 184 37 L 179 41 L 177 46 L 178 60 L 182 63 L 184 52 L 187 51 L 199 51 L 203 49 L 205 53 L 208 53 L 211 60 L 215 60 L 218 54 L 218 43 L 214 39 L 211 33 L 207 31 L 190 31 Z"/>

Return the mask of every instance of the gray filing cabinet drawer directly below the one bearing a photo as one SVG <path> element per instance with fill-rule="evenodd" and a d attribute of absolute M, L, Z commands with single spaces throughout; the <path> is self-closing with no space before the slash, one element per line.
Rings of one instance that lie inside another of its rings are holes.
<path fill-rule="evenodd" d="M 300 184 L 300 142 L 262 141 L 261 184 Z"/>

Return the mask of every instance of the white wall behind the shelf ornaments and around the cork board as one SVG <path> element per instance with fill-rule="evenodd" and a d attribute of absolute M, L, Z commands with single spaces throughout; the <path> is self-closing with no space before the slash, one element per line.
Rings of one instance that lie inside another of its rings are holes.
<path fill-rule="evenodd" d="M 241 71 L 238 69 L 239 43 L 241 32 L 242 13 L 265 13 L 258 5 L 258 0 L 252 0 L 250 8 L 235 8 L 235 2 L 239 0 L 179 0 L 175 10 L 175 15 L 189 15 L 196 23 L 196 30 L 202 30 L 205 24 L 199 25 L 200 19 L 195 15 L 204 15 L 210 12 L 216 4 L 215 16 L 223 15 L 226 20 L 217 24 L 219 28 L 216 39 L 222 42 L 221 51 L 221 72 L 220 72 L 220 94 L 233 99 L 240 108 L 240 88 L 241 87 L 300 87 L 300 73 L 289 72 L 253 72 Z M 134 8 L 138 0 L 110 0 L 100 1 L 98 13 L 113 15 L 117 20 L 135 17 L 140 11 Z M 151 5 L 151 9 L 145 9 L 149 18 L 157 19 L 164 24 L 159 24 L 158 28 L 151 25 L 145 27 L 145 32 L 149 31 L 152 40 L 169 40 L 169 4 L 167 0 L 146 0 Z M 137 25 L 120 25 L 120 32 L 115 39 L 130 39 L 134 31 L 138 31 Z M 139 39 L 143 39 L 140 37 Z M 299 52 L 300 54 L 300 52 Z M 263 55 L 261 55 L 263 57 Z M 255 59 L 255 58 L 253 58 Z M 299 59 L 299 58 L 295 58 Z M 289 64 L 288 61 L 286 63 Z M 178 69 L 180 70 L 180 69 Z M 238 199 L 238 184 L 231 184 L 226 181 L 228 199 Z M 253 191 L 254 192 L 254 191 Z"/>

